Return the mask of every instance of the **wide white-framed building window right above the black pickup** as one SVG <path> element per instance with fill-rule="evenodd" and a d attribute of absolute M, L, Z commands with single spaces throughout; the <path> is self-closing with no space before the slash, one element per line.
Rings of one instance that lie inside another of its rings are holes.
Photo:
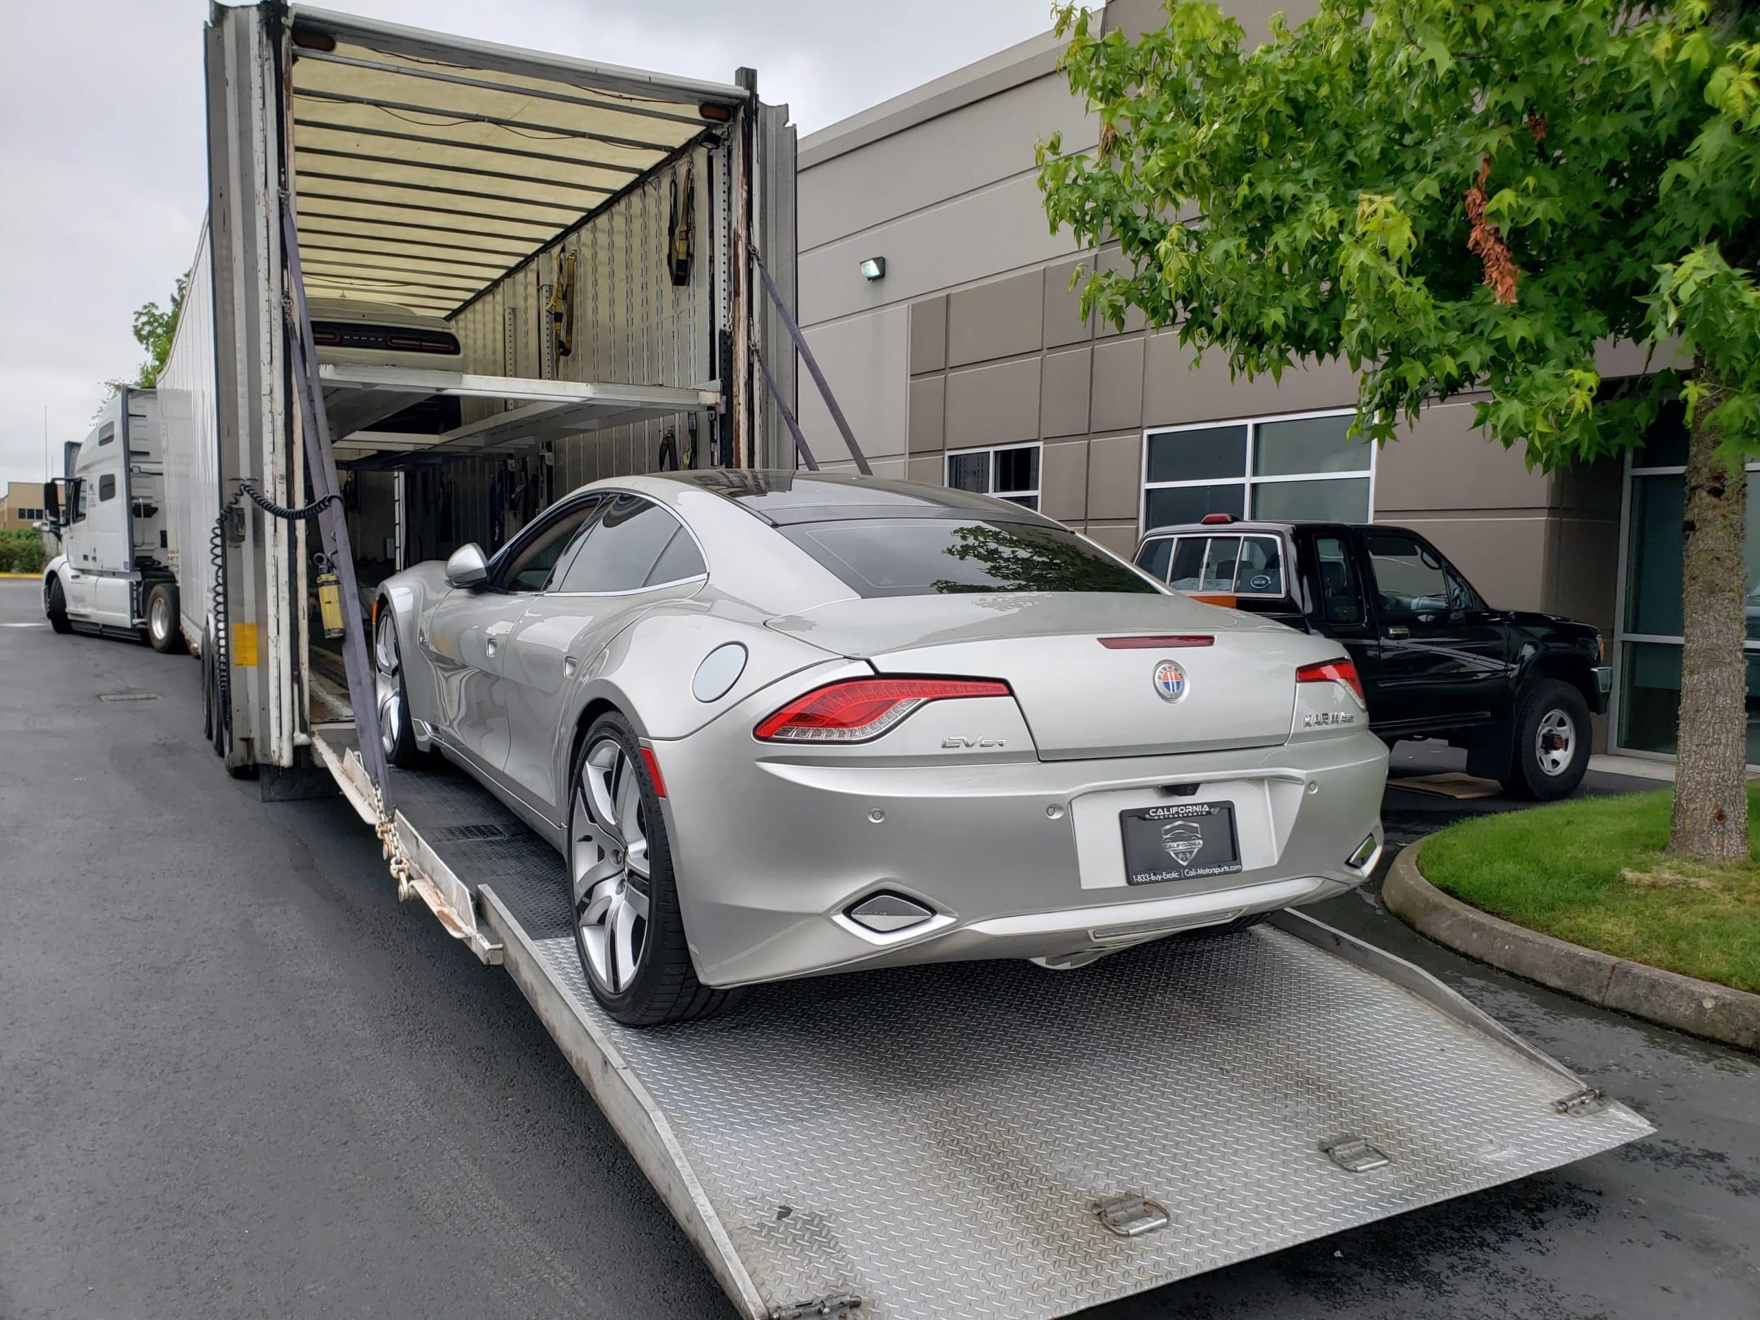
<path fill-rule="evenodd" d="M 1375 445 L 1352 410 L 1170 426 L 1142 436 L 1142 532 L 1234 514 L 1368 523 Z"/>

